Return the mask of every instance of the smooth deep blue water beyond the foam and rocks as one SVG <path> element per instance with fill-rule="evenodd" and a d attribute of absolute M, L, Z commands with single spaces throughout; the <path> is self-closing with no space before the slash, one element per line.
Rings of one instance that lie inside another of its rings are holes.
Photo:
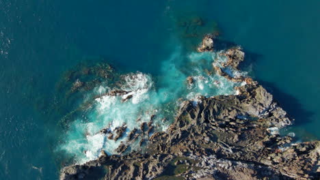
<path fill-rule="evenodd" d="M 302 140 L 319 139 L 319 7 L 317 0 L 0 0 L 0 179 L 57 179 L 61 132 L 49 107 L 58 106 L 64 71 L 103 58 L 160 74 L 181 46 L 176 39 L 190 41 L 177 21 L 194 16 L 215 21 L 223 40 L 245 49 L 250 74 L 296 119 Z"/>

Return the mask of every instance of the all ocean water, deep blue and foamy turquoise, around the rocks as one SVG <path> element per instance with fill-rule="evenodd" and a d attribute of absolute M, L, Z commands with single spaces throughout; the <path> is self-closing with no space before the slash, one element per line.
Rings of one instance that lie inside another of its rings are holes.
<path fill-rule="evenodd" d="M 132 129 L 139 115 L 147 121 L 157 113 L 157 130 L 165 130 L 178 98 L 235 93 L 237 85 L 206 72 L 217 55 L 194 52 L 209 31 L 219 31 L 226 46 L 243 47 L 243 71 L 296 119 L 286 132 L 319 139 L 318 7 L 317 0 L 0 0 L 0 179 L 57 179 L 65 163 L 114 151 L 96 136 L 102 126 Z M 114 87 L 101 82 L 64 101 L 59 82 L 83 62 L 113 65 L 133 98 L 110 100 L 102 93 Z M 188 76 L 196 78 L 194 87 Z M 212 86 L 216 80 L 220 87 Z M 100 97 L 73 115 L 90 95 Z"/>

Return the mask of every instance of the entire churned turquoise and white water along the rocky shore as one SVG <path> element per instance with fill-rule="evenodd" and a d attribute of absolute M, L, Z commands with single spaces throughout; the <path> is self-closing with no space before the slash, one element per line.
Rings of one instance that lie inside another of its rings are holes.
<path fill-rule="evenodd" d="M 219 52 L 183 55 L 181 48 L 176 48 L 161 63 L 158 76 L 135 72 L 120 75 L 112 86 L 106 82 L 96 85 L 88 92 L 96 94 L 96 98 L 90 108 L 70 122 L 64 143 L 59 149 L 75 157 L 80 164 L 96 159 L 101 150 L 114 154 L 122 142 L 127 142 L 129 133 L 139 130 L 142 123 L 152 121 L 154 131 L 166 130 L 174 119 L 181 98 L 196 104 L 201 95 L 235 94 L 234 88 L 240 84 L 213 71 L 212 63 L 224 62 L 226 57 Z M 187 82 L 188 77 L 192 78 L 192 82 Z M 111 93 L 116 91 L 123 94 Z M 114 132 L 119 127 L 125 127 L 123 136 L 117 140 L 110 138 L 110 134 L 116 135 Z M 143 149 L 138 142 L 148 140 L 152 132 L 131 142 L 130 150 Z"/>

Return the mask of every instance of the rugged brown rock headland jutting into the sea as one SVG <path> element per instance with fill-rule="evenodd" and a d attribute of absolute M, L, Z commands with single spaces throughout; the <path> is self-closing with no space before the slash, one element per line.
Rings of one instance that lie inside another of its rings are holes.
<path fill-rule="evenodd" d="M 60 179 L 319 179 L 320 142 L 280 136 L 278 129 L 292 120 L 258 82 L 224 72 L 237 70 L 241 48 L 224 53 L 228 61 L 213 66 L 246 82 L 237 95 L 200 97 L 196 105 L 185 101 L 166 132 L 142 138 L 140 143 L 148 140 L 144 151 L 123 153 L 151 123 L 129 134 L 131 141 L 116 150 L 120 155 L 102 151 L 97 160 L 63 168 Z"/>

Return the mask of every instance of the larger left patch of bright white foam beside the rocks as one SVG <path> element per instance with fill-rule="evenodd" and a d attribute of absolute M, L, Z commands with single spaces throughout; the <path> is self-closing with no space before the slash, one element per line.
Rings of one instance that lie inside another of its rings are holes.
<path fill-rule="evenodd" d="M 120 141 L 109 140 L 105 134 L 99 133 L 101 129 L 109 128 L 114 131 L 116 127 L 126 125 L 129 132 L 139 128 L 137 119 L 141 122 L 150 121 L 151 115 L 157 114 L 157 104 L 152 104 L 148 98 L 154 93 L 150 92 L 153 85 L 150 76 L 137 72 L 126 74 L 122 78 L 124 82 L 121 89 L 130 93 L 122 96 L 108 95 L 108 93 L 102 95 L 109 87 L 99 87 L 97 91 L 101 97 L 96 98 L 94 110 L 88 115 L 89 122 L 79 123 L 81 121 L 79 119 L 72 125 L 75 128 L 68 132 L 66 145 L 62 149 L 68 153 L 75 153 L 74 148 L 80 149 L 76 151 L 79 163 L 96 159 L 101 150 L 115 153 L 114 150 L 120 145 Z M 127 102 L 122 102 L 128 95 L 133 97 Z M 85 137 L 81 133 L 86 134 Z"/>

